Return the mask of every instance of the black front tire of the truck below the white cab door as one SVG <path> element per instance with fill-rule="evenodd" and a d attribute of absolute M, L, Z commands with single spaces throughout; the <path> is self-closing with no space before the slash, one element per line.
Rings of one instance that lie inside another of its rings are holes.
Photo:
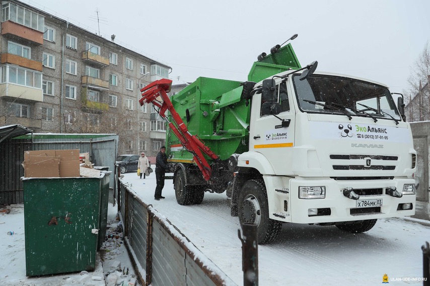
<path fill-rule="evenodd" d="M 258 244 L 270 243 L 278 236 L 282 222 L 269 219 L 266 187 L 262 179 L 248 180 L 238 198 L 239 222 L 257 225 Z"/>

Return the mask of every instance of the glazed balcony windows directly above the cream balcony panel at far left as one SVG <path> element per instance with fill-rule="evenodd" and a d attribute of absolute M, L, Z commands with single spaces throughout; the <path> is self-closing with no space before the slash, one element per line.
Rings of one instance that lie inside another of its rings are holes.
<path fill-rule="evenodd" d="M 16 66 L 2 66 L 2 83 L 15 83 L 29 87 L 42 88 L 42 73 Z"/>

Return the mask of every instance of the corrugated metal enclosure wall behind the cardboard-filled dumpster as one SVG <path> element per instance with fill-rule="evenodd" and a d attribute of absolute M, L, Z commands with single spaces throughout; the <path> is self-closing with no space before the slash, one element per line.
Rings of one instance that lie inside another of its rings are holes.
<path fill-rule="evenodd" d="M 89 153 L 96 166 L 115 170 L 118 135 L 114 134 L 32 134 L 8 139 L 0 144 L 0 204 L 21 204 L 23 198 L 24 152 L 29 150 L 79 149 Z M 115 189 L 110 176 L 109 187 Z"/>

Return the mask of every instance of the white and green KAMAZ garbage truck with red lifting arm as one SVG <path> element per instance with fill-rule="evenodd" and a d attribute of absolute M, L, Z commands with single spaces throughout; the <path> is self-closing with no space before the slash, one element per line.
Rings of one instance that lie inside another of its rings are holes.
<path fill-rule="evenodd" d="M 226 192 L 241 226 L 257 225 L 259 244 L 283 223 L 361 233 L 377 219 L 414 215 L 403 98 L 317 64 L 302 67 L 284 43 L 257 57 L 247 81 L 199 77 L 170 98 L 169 79 L 140 90 L 140 105 L 152 103 L 169 125 L 178 204 Z"/>

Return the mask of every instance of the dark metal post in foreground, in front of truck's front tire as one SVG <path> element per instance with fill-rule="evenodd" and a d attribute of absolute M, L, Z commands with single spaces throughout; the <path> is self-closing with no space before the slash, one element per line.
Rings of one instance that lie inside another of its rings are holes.
<path fill-rule="evenodd" d="M 243 286 L 258 286 L 258 236 L 256 224 L 243 224 L 242 242 Z"/>

